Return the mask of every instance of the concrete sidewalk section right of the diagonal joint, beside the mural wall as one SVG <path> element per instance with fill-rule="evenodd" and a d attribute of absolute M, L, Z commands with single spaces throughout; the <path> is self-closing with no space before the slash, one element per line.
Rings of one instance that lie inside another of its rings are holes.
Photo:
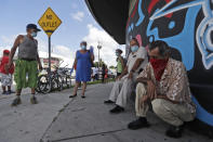
<path fill-rule="evenodd" d="M 164 135 L 167 124 L 148 114 L 150 128 L 129 130 L 127 125 L 135 119 L 134 106 L 119 115 L 109 114 L 114 105 L 105 105 L 112 83 L 90 86 L 86 98 L 80 95 L 69 102 L 41 138 L 41 142 L 212 142 L 212 140 L 185 130 L 182 139 Z M 79 92 L 80 94 L 80 92 Z"/>

